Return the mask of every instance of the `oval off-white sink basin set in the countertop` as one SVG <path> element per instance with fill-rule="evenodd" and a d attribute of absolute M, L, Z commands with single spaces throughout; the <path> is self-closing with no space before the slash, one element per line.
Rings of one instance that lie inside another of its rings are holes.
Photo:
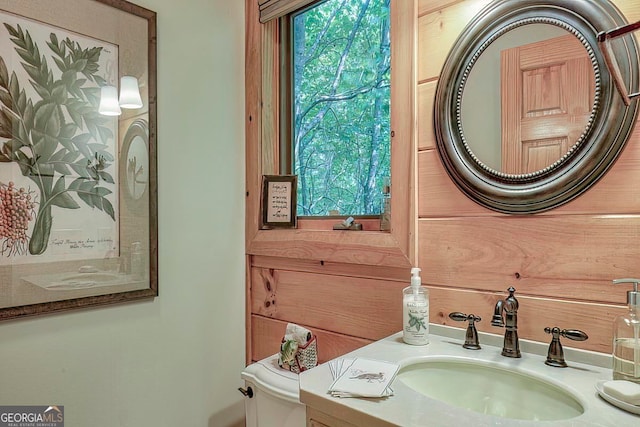
<path fill-rule="evenodd" d="M 398 379 L 449 405 L 504 418 L 552 421 L 584 413 L 578 399 L 560 386 L 486 361 L 421 361 L 403 367 Z"/>

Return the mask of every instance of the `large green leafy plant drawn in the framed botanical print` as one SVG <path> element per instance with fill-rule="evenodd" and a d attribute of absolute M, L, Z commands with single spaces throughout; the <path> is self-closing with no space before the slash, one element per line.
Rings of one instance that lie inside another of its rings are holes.
<path fill-rule="evenodd" d="M 30 98 L 0 57 L 0 138 L 5 139 L 0 162 L 17 163 L 38 187 L 29 253 L 39 255 L 47 248 L 53 206 L 79 209 L 82 202 L 115 221 L 107 199 L 112 191 L 105 187 L 114 184 L 107 172 L 114 157 L 106 144 L 114 135 L 109 119 L 98 113 L 100 86 L 105 84 L 97 74 L 102 48 L 82 48 L 51 33 L 46 44 L 61 73 L 56 78 L 29 31 L 20 25 L 4 27 L 39 99 Z"/>

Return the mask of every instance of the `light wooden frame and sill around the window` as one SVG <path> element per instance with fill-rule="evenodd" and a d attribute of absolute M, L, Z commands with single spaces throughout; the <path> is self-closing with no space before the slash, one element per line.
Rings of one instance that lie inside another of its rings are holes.
<path fill-rule="evenodd" d="M 278 20 L 259 21 L 245 0 L 246 253 L 409 268 L 416 239 L 416 0 L 391 0 L 391 231 L 335 231 L 328 220 L 297 229 L 260 229 L 262 175 L 280 173 Z M 332 223 L 335 220 L 332 221 Z M 365 227 L 366 228 L 366 227 Z"/>

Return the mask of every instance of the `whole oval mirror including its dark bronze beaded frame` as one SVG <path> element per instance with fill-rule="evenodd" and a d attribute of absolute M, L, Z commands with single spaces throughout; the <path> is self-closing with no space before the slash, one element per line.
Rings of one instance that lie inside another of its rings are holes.
<path fill-rule="evenodd" d="M 638 107 L 616 92 L 597 35 L 625 23 L 608 1 L 498 0 L 476 16 L 449 53 L 434 107 L 438 152 L 465 194 L 533 213 L 603 176 Z M 637 87 L 635 39 L 615 49 Z"/>

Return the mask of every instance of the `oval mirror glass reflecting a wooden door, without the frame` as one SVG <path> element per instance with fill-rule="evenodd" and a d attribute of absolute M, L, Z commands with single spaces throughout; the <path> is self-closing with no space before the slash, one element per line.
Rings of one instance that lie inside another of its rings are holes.
<path fill-rule="evenodd" d="M 544 170 L 588 130 L 595 87 L 589 52 L 575 35 L 551 24 L 519 26 L 496 37 L 471 67 L 462 134 L 488 168 Z"/>

